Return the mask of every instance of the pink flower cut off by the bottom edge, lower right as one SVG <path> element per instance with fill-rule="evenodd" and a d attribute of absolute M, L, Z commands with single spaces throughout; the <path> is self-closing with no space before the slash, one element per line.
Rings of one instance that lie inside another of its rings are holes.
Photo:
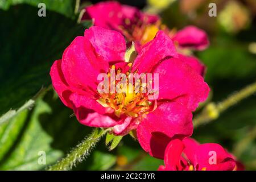
<path fill-rule="evenodd" d="M 241 163 L 217 143 L 200 144 L 192 138 L 173 139 L 164 152 L 160 171 L 243 170 Z"/>

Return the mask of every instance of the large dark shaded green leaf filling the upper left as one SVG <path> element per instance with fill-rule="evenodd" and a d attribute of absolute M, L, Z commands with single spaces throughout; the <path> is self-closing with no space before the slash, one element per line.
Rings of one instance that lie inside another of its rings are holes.
<path fill-rule="evenodd" d="M 0 121 L 22 111 L 18 109 L 20 106 L 51 84 L 49 71 L 53 61 L 61 59 L 64 49 L 84 32 L 82 25 L 50 10 L 50 7 L 57 9 L 57 5 L 60 1 L 48 4 L 46 17 L 39 17 L 35 6 L 0 9 L 0 116 L 9 111 Z M 58 7 L 69 5 L 71 1 L 61 1 Z"/>

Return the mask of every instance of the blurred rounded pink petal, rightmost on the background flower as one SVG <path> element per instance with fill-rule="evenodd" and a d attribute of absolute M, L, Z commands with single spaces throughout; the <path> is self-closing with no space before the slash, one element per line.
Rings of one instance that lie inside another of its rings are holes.
<path fill-rule="evenodd" d="M 187 26 L 178 31 L 172 40 L 177 41 L 180 47 L 198 50 L 203 50 L 209 45 L 206 32 L 195 26 Z"/>

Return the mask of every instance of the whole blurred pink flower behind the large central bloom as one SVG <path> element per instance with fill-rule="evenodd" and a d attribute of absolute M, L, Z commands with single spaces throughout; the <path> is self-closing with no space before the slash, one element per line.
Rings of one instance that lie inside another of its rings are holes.
<path fill-rule="evenodd" d="M 136 7 L 121 5 L 119 2 L 106 1 L 85 8 L 86 13 L 83 19 L 93 19 L 94 25 L 121 32 L 128 42 L 135 42 L 137 51 L 142 46 L 154 39 L 159 30 L 163 30 L 177 44 L 179 52 L 183 48 L 203 50 L 208 47 L 207 34 L 195 26 L 185 27 L 183 30 L 170 31 L 161 24 L 157 15 L 142 13 Z M 180 55 L 182 56 L 182 55 Z M 204 76 L 205 66 L 196 57 L 185 57 L 189 65 Z"/>

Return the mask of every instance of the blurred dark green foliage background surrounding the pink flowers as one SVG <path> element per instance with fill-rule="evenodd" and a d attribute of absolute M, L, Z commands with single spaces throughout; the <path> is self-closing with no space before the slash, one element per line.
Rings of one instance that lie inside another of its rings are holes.
<path fill-rule="evenodd" d="M 47 7 L 39 18 L 38 3 Z M 98 1 L 81 1 L 89 5 Z M 158 13 L 170 28 L 194 24 L 208 32 L 210 47 L 196 56 L 207 65 L 205 80 L 218 102 L 256 79 L 255 0 L 148 0 L 120 1 L 150 13 Z M 209 3 L 217 4 L 217 17 L 209 17 Z M 86 24 L 77 24 L 72 0 L 0 0 L 0 169 L 45 169 L 56 162 L 91 131 L 80 125 L 53 92 L 49 68 L 60 59 Z M 44 88 L 44 89 L 42 89 Z M 29 102 L 24 105 L 26 101 Z M 22 106 L 22 107 L 20 107 Z M 197 114 L 197 113 L 195 113 Z M 229 108 L 193 137 L 216 142 L 233 152 L 246 169 L 256 169 L 256 97 Z M 102 139 L 92 155 L 74 170 L 155 170 L 163 161 L 147 155 L 130 136 L 113 151 Z"/>

